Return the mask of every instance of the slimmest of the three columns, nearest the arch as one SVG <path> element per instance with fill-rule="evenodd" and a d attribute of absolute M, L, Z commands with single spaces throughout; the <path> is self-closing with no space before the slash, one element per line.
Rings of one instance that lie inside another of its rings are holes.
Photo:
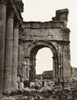
<path fill-rule="evenodd" d="M 17 89 L 17 67 L 18 67 L 18 33 L 19 24 L 17 23 L 14 28 L 13 35 L 13 65 L 12 65 L 12 88 Z"/>

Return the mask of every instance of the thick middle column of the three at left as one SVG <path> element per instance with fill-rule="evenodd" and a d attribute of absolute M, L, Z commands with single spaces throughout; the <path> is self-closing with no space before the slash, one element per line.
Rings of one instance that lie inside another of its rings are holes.
<path fill-rule="evenodd" d="M 12 82 L 12 51 L 13 51 L 13 12 L 9 12 L 7 18 L 7 32 L 5 45 L 5 76 L 4 92 L 11 92 Z"/>

